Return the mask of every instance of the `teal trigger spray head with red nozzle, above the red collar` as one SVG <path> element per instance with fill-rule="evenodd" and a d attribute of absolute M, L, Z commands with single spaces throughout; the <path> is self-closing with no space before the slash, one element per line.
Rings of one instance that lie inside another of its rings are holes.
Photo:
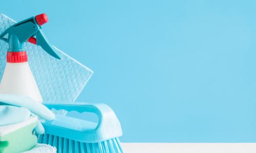
<path fill-rule="evenodd" d="M 60 59 L 41 30 L 41 25 L 48 22 L 45 13 L 17 22 L 0 34 L 0 39 L 9 43 L 9 52 L 24 51 L 24 42 L 39 45 L 51 56 Z M 7 38 L 5 36 L 8 34 Z"/>

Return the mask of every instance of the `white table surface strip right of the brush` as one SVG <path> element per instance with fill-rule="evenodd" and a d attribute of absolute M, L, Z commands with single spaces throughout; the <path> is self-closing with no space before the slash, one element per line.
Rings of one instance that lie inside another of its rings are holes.
<path fill-rule="evenodd" d="M 126 153 L 256 153 L 256 143 L 122 143 Z"/>

